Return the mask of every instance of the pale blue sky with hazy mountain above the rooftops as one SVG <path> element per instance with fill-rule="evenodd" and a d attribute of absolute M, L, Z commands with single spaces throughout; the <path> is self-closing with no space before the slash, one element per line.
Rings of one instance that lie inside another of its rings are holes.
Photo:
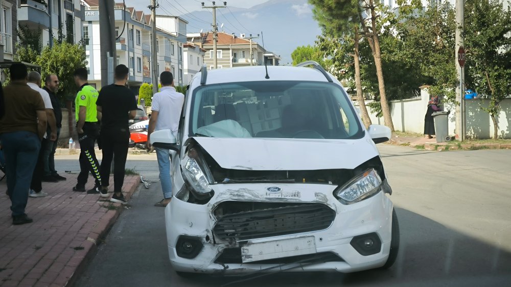
<path fill-rule="evenodd" d="M 115 2 L 121 2 L 116 0 Z M 126 0 L 126 6 L 135 7 L 138 11 L 149 14 L 147 6 L 151 0 Z M 201 2 L 205 6 L 211 6 L 208 0 L 157 0 L 159 8 L 157 14 L 171 14 L 182 16 L 189 21 L 187 31 L 189 33 L 211 30 L 211 9 L 202 9 Z M 216 5 L 222 5 L 223 1 L 216 1 Z M 264 5 L 261 5 L 264 4 Z M 254 39 L 262 43 L 264 47 L 280 55 L 281 65 L 292 62 L 291 53 L 300 45 L 314 45 L 317 35 L 321 33 L 317 22 L 312 18 L 312 7 L 307 0 L 230 0 L 227 1 L 228 9 L 217 10 L 217 22 L 220 31 L 238 37 L 242 33 L 264 33 L 263 39 Z M 189 15 L 192 13 L 192 16 Z M 221 28 L 223 27 L 223 28 Z"/>

